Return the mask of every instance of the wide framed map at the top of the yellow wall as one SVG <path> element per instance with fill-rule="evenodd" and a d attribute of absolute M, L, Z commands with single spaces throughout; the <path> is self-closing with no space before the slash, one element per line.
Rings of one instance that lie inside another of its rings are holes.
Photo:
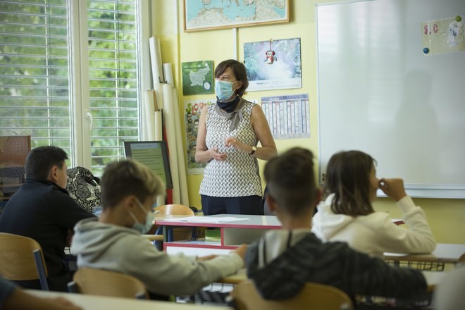
<path fill-rule="evenodd" d="M 290 0 L 184 0 L 185 32 L 289 21 Z"/>

